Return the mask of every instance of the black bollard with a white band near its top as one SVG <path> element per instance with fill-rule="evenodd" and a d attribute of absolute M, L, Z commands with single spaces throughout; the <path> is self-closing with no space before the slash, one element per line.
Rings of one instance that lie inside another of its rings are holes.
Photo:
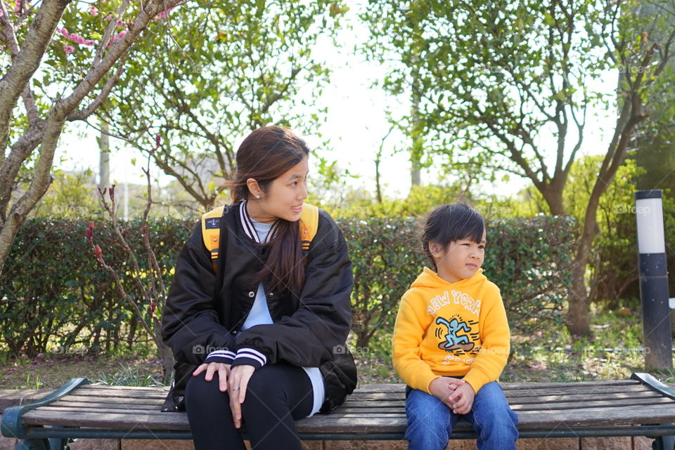
<path fill-rule="evenodd" d="M 668 271 L 660 190 L 635 193 L 645 366 L 673 369 Z"/>

